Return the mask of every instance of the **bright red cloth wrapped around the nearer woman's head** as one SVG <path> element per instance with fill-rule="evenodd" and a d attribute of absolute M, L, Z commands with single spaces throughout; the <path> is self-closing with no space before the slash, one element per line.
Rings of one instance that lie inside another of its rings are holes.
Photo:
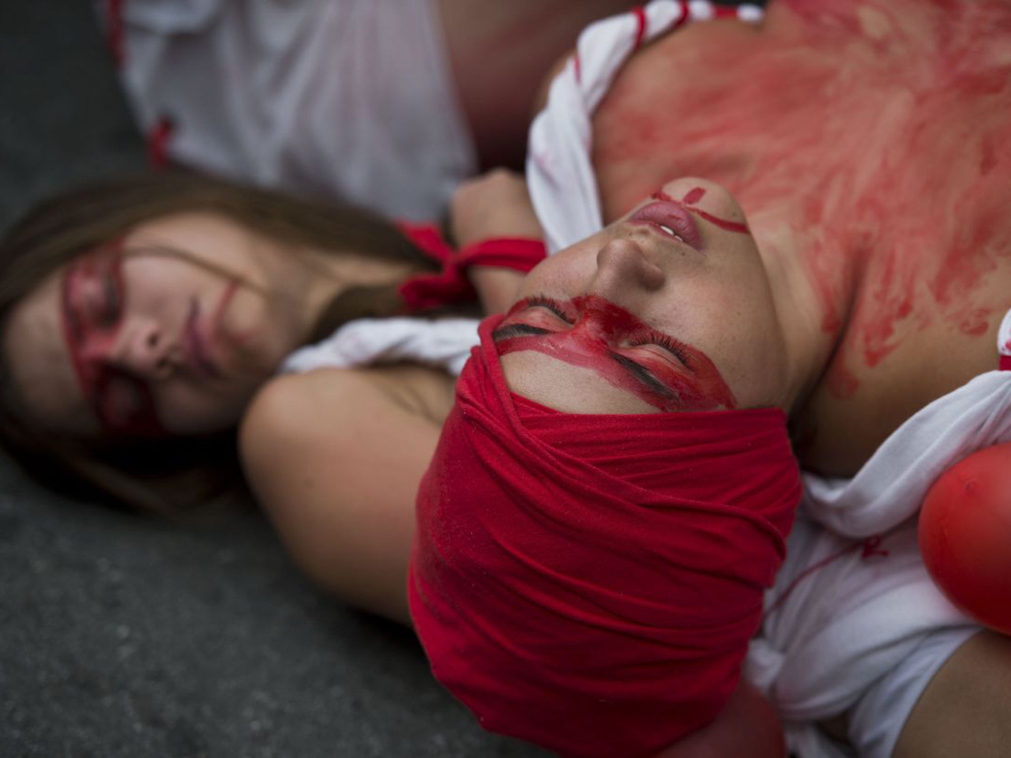
<path fill-rule="evenodd" d="M 505 386 L 499 320 L 419 491 L 416 630 L 486 729 L 649 755 L 737 685 L 801 496 L 786 417 L 550 410 Z"/>

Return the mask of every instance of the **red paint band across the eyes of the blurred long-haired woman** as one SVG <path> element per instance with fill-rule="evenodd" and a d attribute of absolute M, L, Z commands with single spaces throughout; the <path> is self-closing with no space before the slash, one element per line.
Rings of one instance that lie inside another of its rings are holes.
<path fill-rule="evenodd" d="M 78 385 L 102 429 L 115 435 L 156 437 L 166 432 L 151 386 L 107 360 L 122 325 L 126 298 L 120 247 L 114 243 L 67 269 L 60 301 L 64 340 Z"/>

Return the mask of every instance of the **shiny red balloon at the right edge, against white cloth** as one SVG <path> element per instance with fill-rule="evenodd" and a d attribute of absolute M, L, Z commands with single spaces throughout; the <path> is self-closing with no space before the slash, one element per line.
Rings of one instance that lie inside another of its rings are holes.
<path fill-rule="evenodd" d="M 934 482 L 920 551 L 952 603 L 1011 635 L 1011 443 L 963 458 Z"/>

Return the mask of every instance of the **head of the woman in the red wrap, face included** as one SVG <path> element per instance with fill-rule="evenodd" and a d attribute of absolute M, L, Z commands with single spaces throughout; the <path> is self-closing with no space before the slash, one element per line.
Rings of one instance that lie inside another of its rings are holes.
<path fill-rule="evenodd" d="M 486 728 L 631 758 L 730 698 L 801 494 L 779 273 L 729 193 L 680 180 L 482 323 L 408 595 L 437 678 Z"/>

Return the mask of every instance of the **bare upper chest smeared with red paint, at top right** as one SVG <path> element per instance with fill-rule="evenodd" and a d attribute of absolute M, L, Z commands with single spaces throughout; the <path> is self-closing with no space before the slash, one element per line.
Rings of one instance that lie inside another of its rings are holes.
<path fill-rule="evenodd" d="M 594 119 L 608 220 L 679 177 L 727 187 L 763 254 L 805 270 L 838 396 L 904 340 L 1011 307 L 1011 6 L 784 0 L 759 33 L 675 36 Z"/>

